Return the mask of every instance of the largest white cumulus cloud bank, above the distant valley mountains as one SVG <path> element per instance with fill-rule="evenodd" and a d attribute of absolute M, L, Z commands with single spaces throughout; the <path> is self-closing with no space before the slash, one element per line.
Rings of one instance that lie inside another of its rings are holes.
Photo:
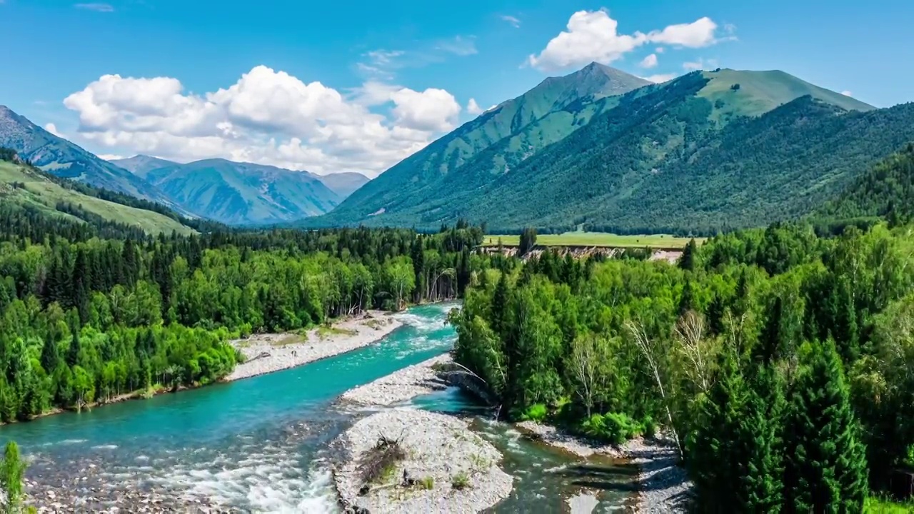
<path fill-rule="evenodd" d="M 385 104 L 387 114 L 372 110 Z M 104 75 L 64 105 L 79 115 L 80 138 L 118 154 L 183 162 L 223 157 L 369 175 L 451 130 L 461 111 L 441 89 L 369 81 L 343 95 L 265 66 L 203 94 L 188 93 L 170 77 Z"/>

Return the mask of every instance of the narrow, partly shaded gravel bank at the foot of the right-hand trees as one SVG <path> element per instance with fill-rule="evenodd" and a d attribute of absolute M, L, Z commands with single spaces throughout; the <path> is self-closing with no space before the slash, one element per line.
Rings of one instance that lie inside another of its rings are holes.
<path fill-rule="evenodd" d="M 553 426 L 524 422 L 517 423 L 544 443 L 562 448 L 574 455 L 588 457 L 594 454 L 627 458 L 640 467 L 638 474 L 637 512 L 685 513 L 692 483 L 685 469 L 676 465 L 675 448 L 666 441 L 632 439 L 622 446 L 596 444 L 581 437 L 564 434 Z"/>

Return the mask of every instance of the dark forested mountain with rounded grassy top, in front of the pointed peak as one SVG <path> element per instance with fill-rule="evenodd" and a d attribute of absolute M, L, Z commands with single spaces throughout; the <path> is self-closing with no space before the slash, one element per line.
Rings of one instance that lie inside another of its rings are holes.
<path fill-rule="evenodd" d="M 583 79 L 594 70 L 562 79 L 592 84 Z M 537 88 L 519 98 L 540 96 Z M 498 110 L 485 113 L 303 225 L 758 225 L 813 209 L 914 137 L 912 107 L 877 111 L 782 71 L 696 71 L 621 95 L 564 98 L 484 150 L 450 159 L 446 173 L 436 168 L 447 145 Z M 523 151 L 527 138 L 540 144 Z"/>

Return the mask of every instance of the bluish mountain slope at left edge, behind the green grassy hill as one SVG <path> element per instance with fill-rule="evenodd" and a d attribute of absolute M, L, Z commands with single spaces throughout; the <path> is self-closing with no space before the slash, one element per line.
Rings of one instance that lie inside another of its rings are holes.
<path fill-rule="evenodd" d="M 143 178 L 90 154 L 0 105 L 0 146 L 58 177 L 80 180 L 135 198 L 165 204 L 170 200 Z"/>

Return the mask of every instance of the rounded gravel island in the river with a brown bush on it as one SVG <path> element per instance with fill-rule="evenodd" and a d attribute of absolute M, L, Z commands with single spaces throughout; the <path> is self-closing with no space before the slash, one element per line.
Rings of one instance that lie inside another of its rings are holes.
<path fill-rule="evenodd" d="M 478 512 L 513 487 L 498 450 L 453 416 L 389 409 L 360 420 L 334 444 L 344 454 L 334 481 L 347 512 Z M 369 474 L 368 463 L 390 444 L 399 457 Z"/>

